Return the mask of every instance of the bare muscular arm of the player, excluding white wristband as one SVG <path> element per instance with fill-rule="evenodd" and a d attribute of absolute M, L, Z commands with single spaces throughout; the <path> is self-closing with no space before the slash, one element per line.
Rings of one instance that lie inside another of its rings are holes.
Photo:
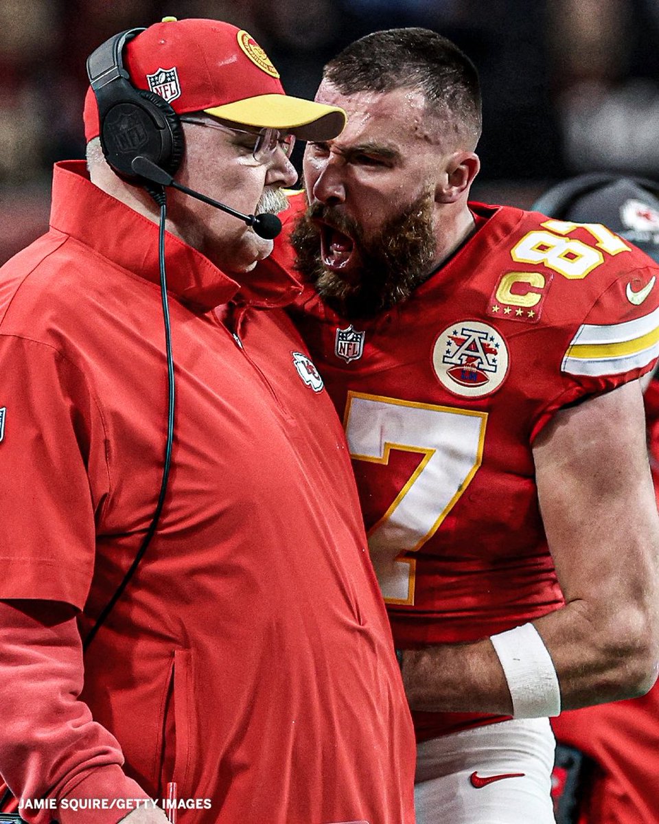
<path fill-rule="evenodd" d="M 565 606 L 533 623 L 563 709 L 642 695 L 659 657 L 659 517 L 638 382 L 556 415 L 533 450 Z M 405 651 L 414 709 L 510 714 L 489 639 Z"/>

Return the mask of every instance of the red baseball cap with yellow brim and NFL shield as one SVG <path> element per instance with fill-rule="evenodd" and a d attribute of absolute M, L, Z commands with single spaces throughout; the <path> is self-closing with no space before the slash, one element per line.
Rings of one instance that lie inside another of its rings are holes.
<path fill-rule="evenodd" d="M 165 17 L 129 40 L 123 60 L 134 87 L 156 92 L 180 115 L 206 111 L 301 140 L 330 140 L 345 125 L 343 109 L 288 96 L 264 50 L 244 29 L 222 21 Z M 98 137 L 91 87 L 83 118 L 86 140 Z"/>

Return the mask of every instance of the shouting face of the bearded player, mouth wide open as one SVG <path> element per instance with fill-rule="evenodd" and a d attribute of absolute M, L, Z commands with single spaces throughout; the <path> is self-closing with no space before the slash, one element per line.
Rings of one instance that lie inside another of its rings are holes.
<path fill-rule="evenodd" d="M 448 149 L 418 91 L 343 95 L 324 81 L 316 100 L 342 106 L 348 124 L 334 140 L 307 144 L 309 209 L 292 242 L 323 297 L 365 317 L 403 300 L 434 268 L 434 193 Z"/>

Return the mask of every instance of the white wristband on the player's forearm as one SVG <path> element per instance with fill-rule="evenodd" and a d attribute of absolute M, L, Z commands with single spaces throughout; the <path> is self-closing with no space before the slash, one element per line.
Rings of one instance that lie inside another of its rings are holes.
<path fill-rule="evenodd" d="M 554 662 L 532 624 L 490 635 L 512 698 L 516 719 L 559 715 L 561 691 Z"/>

